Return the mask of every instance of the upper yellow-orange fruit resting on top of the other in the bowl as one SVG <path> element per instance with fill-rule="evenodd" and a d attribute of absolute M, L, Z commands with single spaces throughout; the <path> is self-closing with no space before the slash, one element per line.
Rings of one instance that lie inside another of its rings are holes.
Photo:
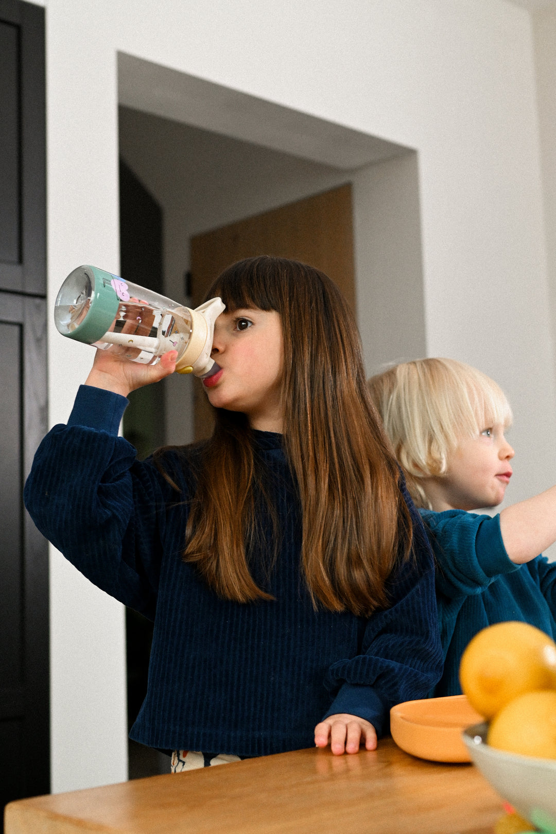
<path fill-rule="evenodd" d="M 489 625 L 463 652 L 459 680 L 471 706 L 488 720 L 525 692 L 556 690 L 556 643 L 528 623 Z"/>

